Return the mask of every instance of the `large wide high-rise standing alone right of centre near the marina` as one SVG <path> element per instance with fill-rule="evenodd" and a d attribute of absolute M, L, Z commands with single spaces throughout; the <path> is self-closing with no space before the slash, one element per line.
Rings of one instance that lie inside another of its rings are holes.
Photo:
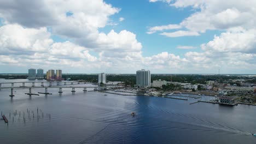
<path fill-rule="evenodd" d="M 136 85 L 137 86 L 150 86 L 151 76 L 149 70 L 137 70 L 136 71 Z"/>

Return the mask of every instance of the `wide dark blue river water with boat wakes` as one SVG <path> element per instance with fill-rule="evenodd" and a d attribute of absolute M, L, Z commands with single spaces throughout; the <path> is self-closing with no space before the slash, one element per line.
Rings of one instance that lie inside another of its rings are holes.
<path fill-rule="evenodd" d="M 9 81 L 28 80 L 0 79 Z M 27 88 L 14 89 L 11 99 L 10 89 L 2 89 L 0 111 L 9 123 L 0 121 L 0 143 L 256 143 L 251 135 L 256 133 L 256 106 L 190 105 L 193 98 L 104 95 L 83 88 L 75 94 L 62 88 L 59 95 L 58 90 L 30 97 Z"/>

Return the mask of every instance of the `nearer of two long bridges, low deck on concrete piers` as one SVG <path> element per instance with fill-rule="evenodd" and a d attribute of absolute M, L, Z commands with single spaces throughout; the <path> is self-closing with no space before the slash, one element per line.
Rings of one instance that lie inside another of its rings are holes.
<path fill-rule="evenodd" d="M 25 88 L 28 88 L 29 89 L 29 92 L 28 93 L 25 93 L 27 95 L 39 95 L 39 94 L 51 94 L 51 93 L 48 93 L 48 88 L 59 88 L 59 92 L 58 93 L 63 93 L 62 92 L 62 88 L 72 88 L 72 94 L 74 94 L 75 92 L 75 88 L 84 88 L 83 91 L 84 92 L 87 92 L 86 88 L 94 88 L 93 91 L 98 91 L 98 89 L 105 89 L 107 87 L 98 87 L 98 86 L 95 86 L 95 87 L 82 87 L 82 86 L 75 86 L 75 87 L 67 87 L 67 86 L 48 86 L 48 87 L 0 87 L 0 90 L 1 89 L 11 89 L 11 93 L 10 93 L 10 97 L 14 97 L 14 94 L 13 94 L 13 89 L 25 89 Z M 36 94 L 36 93 L 32 93 L 32 88 L 44 88 L 45 89 L 45 92 L 38 92 L 39 94 Z"/>

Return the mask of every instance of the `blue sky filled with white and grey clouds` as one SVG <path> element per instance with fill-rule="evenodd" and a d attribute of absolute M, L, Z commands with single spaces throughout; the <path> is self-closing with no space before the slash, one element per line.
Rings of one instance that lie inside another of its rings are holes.
<path fill-rule="evenodd" d="M 255 7 L 255 0 L 0 0 L 0 73 L 256 74 Z"/>

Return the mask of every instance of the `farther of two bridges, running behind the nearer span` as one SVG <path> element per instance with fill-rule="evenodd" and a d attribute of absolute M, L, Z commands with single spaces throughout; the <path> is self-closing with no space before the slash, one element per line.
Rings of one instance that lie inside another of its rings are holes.
<path fill-rule="evenodd" d="M 44 87 L 44 83 L 49 83 L 49 86 L 50 86 L 50 87 L 53 86 L 51 81 L 49 81 L 49 82 L 37 82 L 37 81 L 36 81 L 36 82 L 27 82 L 27 81 L 26 81 L 26 82 L 1 82 L 1 83 L 0 83 L 0 88 L 2 87 L 3 84 L 11 84 L 11 87 L 14 87 L 14 84 L 15 84 L 15 83 L 22 83 L 22 86 L 21 86 L 21 87 L 25 87 L 25 83 L 31 83 L 31 84 L 32 84 L 32 87 L 35 87 L 35 86 L 34 86 L 34 83 L 41 83 L 41 86 L 42 86 L 42 87 Z M 65 81 L 65 82 L 61 82 L 61 81 L 60 81 L 60 82 L 59 82 L 59 81 L 57 81 L 57 86 L 60 86 L 60 83 L 64 83 L 64 85 L 68 85 L 68 84 L 69 84 L 69 85 L 75 85 L 75 84 L 80 84 L 80 83 L 85 83 L 85 82 L 77 82 L 77 81 L 68 81 L 68 82 L 67 82 L 67 81 Z"/>

